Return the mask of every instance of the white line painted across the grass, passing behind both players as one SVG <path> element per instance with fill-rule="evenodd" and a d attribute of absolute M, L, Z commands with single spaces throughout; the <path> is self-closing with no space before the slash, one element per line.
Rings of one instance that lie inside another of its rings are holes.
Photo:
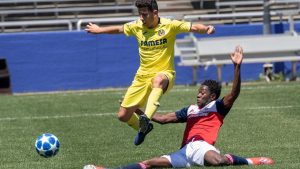
<path fill-rule="evenodd" d="M 233 108 L 234 110 L 263 110 L 263 109 L 286 109 L 298 108 L 300 106 L 267 106 L 267 107 L 250 107 L 250 108 Z M 172 112 L 172 110 L 160 110 L 159 112 Z M 25 116 L 25 117 L 2 117 L 0 121 L 15 121 L 15 120 L 47 120 L 47 119 L 64 119 L 64 118 L 82 118 L 82 117 L 103 117 L 116 116 L 116 113 L 93 113 L 79 115 L 54 115 L 54 116 Z"/>

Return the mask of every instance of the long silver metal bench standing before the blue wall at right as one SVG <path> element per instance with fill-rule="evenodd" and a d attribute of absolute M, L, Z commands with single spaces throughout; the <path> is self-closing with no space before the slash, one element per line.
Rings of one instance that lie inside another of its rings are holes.
<path fill-rule="evenodd" d="M 276 43 L 276 47 L 274 47 Z M 292 77 L 297 77 L 300 61 L 300 36 L 291 34 L 251 35 L 197 39 L 194 36 L 176 41 L 180 66 L 192 67 L 193 84 L 197 83 L 199 67 L 216 66 L 217 79 L 222 81 L 222 67 L 232 64 L 229 54 L 236 45 L 244 49 L 243 63 L 291 62 Z"/>

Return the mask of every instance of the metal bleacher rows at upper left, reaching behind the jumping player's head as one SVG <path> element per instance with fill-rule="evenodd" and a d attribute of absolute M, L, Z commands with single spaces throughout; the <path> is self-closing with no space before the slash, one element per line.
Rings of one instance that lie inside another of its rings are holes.
<path fill-rule="evenodd" d="M 133 2 L 132 0 L 1 0 L 0 31 L 70 30 L 83 19 L 96 18 L 100 21 L 111 18 L 112 21 L 116 21 L 115 23 L 120 23 L 124 21 L 123 17 L 137 16 Z M 165 12 L 165 15 L 174 14 L 174 11 L 177 12 L 176 15 L 178 13 L 183 15 L 193 10 L 190 0 L 159 0 L 158 3 L 160 11 Z M 107 21 L 105 23 L 114 24 Z"/>

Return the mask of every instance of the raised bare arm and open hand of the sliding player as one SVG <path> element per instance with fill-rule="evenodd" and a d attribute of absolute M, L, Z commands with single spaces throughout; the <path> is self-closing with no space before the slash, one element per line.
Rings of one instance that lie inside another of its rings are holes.
<path fill-rule="evenodd" d="M 232 82 L 232 89 L 231 92 L 228 93 L 224 99 L 224 105 L 225 107 L 231 107 L 236 100 L 236 98 L 240 94 L 240 89 L 241 89 L 241 64 L 243 61 L 243 48 L 241 46 L 237 46 L 235 48 L 235 51 L 230 55 L 231 61 L 234 65 L 234 79 Z"/>

